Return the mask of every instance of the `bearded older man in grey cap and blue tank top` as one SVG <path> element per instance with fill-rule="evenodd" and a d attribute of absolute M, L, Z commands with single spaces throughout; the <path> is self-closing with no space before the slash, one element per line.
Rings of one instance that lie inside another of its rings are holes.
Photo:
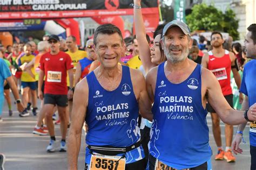
<path fill-rule="evenodd" d="M 206 101 L 223 122 L 232 125 L 254 121 L 255 104 L 246 113 L 232 109 L 211 71 L 187 58 L 192 39 L 185 23 L 173 20 L 166 24 L 161 45 L 167 61 L 146 77 L 154 101 L 150 169 L 207 169 L 212 151 Z"/>

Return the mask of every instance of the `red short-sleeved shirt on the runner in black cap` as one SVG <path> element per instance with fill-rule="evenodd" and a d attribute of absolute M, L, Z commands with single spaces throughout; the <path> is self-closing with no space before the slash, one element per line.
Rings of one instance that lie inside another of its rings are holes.
<path fill-rule="evenodd" d="M 45 53 L 40 59 L 40 69 L 45 74 L 44 94 L 67 95 L 66 85 L 67 70 L 73 68 L 69 54 L 59 52 L 51 55 Z"/>

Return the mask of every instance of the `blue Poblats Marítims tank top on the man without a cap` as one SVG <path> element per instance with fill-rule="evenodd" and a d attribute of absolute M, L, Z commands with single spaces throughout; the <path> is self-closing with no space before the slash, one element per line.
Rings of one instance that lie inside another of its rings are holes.
<path fill-rule="evenodd" d="M 98 82 L 94 72 L 86 76 L 89 101 L 85 121 L 89 126 L 86 143 L 97 146 L 131 146 L 140 140 L 139 107 L 133 93 L 129 67 L 122 66 L 122 80 L 116 90 L 107 91 Z M 122 154 L 120 154 L 122 155 Z M 144 158 L 140 146 L 126 153 L 126 164 Z M 86 148 L 86 164 L 90 163 Z"/>

